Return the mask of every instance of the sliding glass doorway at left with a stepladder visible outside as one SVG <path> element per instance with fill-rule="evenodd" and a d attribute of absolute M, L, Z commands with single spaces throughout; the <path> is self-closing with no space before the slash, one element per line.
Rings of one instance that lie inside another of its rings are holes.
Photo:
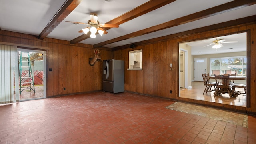
<path fill-rule="evenodd" d="M 46 52 L 18 48 L 18 101 L 46 98 Z"/>

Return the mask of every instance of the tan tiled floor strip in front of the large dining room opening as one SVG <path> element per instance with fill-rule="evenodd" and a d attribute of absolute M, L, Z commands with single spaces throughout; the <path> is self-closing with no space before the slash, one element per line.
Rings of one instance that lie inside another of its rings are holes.
<path fill-rule="evenodd" d="M 230 112 L 228 110 L 219 110 L 216 108 L 188 104 L 184 102 L 175 102 L 166 108 L 180 112 L 186 112 L 188 114 L 195 114 L 213 120 L 220 120 L 222 122 L 228 122 L 237 126 L 248 128 L 248 115 L 246 114 Z"/>

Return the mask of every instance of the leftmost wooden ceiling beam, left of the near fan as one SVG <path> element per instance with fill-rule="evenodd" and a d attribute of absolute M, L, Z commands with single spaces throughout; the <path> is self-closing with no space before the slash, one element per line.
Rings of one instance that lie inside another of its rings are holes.
<path fill-rule="evenodd" d="M 38 39 L 44 39 L 66 16 L 68 16 L 80 3 L 82 0 L 67 0 L 66 3 L 60 8 L 57 14 L 52 18 L 52 20 L 47 24 L 47 26 L 42 30 Z"/>

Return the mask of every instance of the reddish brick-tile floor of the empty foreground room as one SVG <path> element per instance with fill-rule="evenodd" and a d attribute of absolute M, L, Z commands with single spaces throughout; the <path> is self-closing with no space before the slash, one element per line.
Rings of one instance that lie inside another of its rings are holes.
<path fill-rule="evenodd" d="M 167 109 L 172 100 L 96 92 L 0 106 L 0 144 L 255 144 L 248 128 Z"/>

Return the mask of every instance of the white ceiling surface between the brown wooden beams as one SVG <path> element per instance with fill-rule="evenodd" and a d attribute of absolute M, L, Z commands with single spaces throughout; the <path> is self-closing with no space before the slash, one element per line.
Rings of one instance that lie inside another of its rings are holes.
<path fill-rule="evenodd" d="M 80 43 L 98 44 L 230 1 L 232 0 L 176 0 L 166 6 L 162 6 L 161 8 L 120 24 L 119 28 L 111 28 L 107 30 L 108 34 L 103 36 L 97 35 L 94 39 L 88 38 Z M 66 0 L 0 0 L 0 28 L 1 30 L 39 36 L 65 2 Z M 148 0 L 114 0 L 112 2 L 106 2 L 104 0 L 82 0 L 47 37 L 68 41 L 73 40 L 82 35 L 78 31 L 86 26 L 81 24 L 75 25 L 65 21 L 86 23 L 90 19 L 90 13 L 96 12 L 98 14 L 98 21 L 100 23 L 106 23 L 145 2 L 148 2 Z M 113 48 L 123 46 L 252 15 L 256 15 L 256 4 L 142 36 L 114 42 L 105 45 L 105 47 Z M 242 41 L 239 37 L 223 36 L 223 38 L 226 41 Z M 212 38 L 200 43 L 206 43 L 207 45 L 214 39 Z M 190 43 L 190 45 L 193 47 L 195 44 Z M 237 49 L 234 47 L 233 51 Z M 201 54 L 203 54 L 203 50 L 196 51 L 201 51 Z"/>

